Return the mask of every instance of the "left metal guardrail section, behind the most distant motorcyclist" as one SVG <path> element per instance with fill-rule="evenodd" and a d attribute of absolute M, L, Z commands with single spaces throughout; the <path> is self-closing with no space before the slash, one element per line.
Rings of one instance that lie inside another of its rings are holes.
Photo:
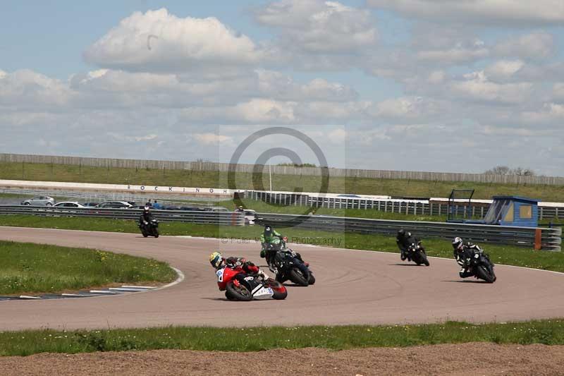
<path fill-rule="evenodd" d="M 197 210 L 151 210 L 160 222 L 189 222 L 195 224 L 223 224 L 244 226 L 241 212 L 205 212 Z M 142 209 L 105 209 L 99 207 L 48 207 L 30 205 L 0 205 L 0 214 L 27 214 L 43 217 L 98 217 L 111 219 L 139 219 Z"/>

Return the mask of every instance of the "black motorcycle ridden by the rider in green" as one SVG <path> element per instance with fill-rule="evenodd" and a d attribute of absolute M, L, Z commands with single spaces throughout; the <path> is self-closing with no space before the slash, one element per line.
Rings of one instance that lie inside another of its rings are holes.
<path fill-rule="evenodd" d="M 315 284 L 315 277 L 309 269 L 309 264 L 302 260 L 300 253 L 290 248 L 278 250 L 274 255 L 273 264 L 276 268 L 276 281 L 280 283 L 289 279 L 299 286 Z"/>

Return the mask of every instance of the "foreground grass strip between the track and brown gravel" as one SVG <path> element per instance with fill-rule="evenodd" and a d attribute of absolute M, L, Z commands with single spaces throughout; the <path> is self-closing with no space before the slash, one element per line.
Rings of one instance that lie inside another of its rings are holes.
<path fill-rule="evenodd" d="M 341 350 L 467 342 L 562 345 L 563 324 L 562 320 L 544 320 L 487 325 L 446 322 L 376 327 L 166 327 L 69 332 L 33 330 L 0 332 L 0 356 L 162 348 L 262 351 L 271 348 L 319 347 Z"/>

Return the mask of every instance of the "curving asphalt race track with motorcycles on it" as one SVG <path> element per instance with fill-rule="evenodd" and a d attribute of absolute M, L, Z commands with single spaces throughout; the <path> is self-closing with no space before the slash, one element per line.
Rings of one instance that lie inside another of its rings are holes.
<path fill-rule="evenodd" d="M 397 253 L 292 248 L 312 265 L 314 286 L 288 287 L 286 301 L 230 302 L 216 286 L 208 255 L 221 250 L 264 264 L 259 245 L 218 239 L 0 227 L 0 239 L 97 248 L 165 260 L 184 281 L 125 296 L 0 302 L 0 330 L 261 325 L 505 322 L 564 316 L 564 274 L 496 266 L 498 280 L 462 281 L 454 260 L 431 267 Z M 492 260 L 495 262 L 495 260 Z"/>

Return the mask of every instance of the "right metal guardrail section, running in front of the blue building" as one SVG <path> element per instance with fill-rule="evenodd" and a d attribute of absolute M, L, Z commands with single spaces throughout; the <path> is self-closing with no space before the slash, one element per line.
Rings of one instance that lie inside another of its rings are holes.
<path fill-rule="evenodd" d="M 360 234 L 396 235 L 405 229 L 417 236 L 452 239 L 460 236 L 465 241 L 517 245 L 542 250 L 560 251 L 562 229 L 537 229 L 534 227 L 493 226 L 482 224 L 453 224 L 446 222 L 388 221 L 321 215 L 291 215 L 259 213 L 255 224 L 296 226 L 321 231 L 356 232 Z"/>

